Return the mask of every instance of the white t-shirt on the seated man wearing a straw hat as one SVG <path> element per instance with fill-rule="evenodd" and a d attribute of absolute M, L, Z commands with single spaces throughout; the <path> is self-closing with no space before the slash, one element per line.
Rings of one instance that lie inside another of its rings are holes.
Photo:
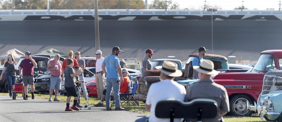
<path fill-rule="evenodd" d="M 155 116 L 155 107 L 157 102 L 169 98 L 175 98 L 184 101 L 186 90 L 184 86 L 173 80 L 163 80 L 158 83 L 153 83 L 148 91 L 146 104 L 151 105 L 151 114 L 149 122 L 169 122 L 170 119 L 157 118 Z M 174 119 L 175 122 L 180 122 L 181 119 Z"/>

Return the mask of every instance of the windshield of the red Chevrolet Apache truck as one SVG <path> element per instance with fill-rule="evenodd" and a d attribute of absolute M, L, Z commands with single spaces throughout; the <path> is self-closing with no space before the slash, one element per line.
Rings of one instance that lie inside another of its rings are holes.
<path fill-rule="evenodd" d="M 270 71 L 270 69 L 276 68 L 275 59 L 272 55 L 261 55 L 259 61 L 256 63 L 253 71 Z"/>

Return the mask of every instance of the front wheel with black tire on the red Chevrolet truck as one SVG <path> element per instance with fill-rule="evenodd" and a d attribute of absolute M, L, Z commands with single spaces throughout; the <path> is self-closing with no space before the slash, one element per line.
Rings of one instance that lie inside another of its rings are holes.
<path fill-rule="evenodd" d="M 249 101 L 250 104 L 254 104 L 252 98 L 247 95 L 239 94 L 233 96 L 229 102 L 229 114 L 233 116 L 251 116 L 254 111 L 247 110 L 247 101 Z"/>

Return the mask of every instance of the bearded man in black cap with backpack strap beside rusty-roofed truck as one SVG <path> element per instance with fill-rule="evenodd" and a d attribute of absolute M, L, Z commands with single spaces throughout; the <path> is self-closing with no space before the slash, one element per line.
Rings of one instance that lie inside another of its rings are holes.
<path fill-rule="evenodd" d="M 206 51 L 208 49 L 206 49 L 205 47 L 200 47 L 198 52 L 198 56 L 197 58 L 194 58 L 194 60 L 192 61 L 192 66 L 200 66 L 200 64 L 204 61 L 203 57 L 206 56 Z M 198 76 L 198 72 L 196 70 L 193 71 L 193 78 L 198 78 L 199 79 L 199 76 Z"/>

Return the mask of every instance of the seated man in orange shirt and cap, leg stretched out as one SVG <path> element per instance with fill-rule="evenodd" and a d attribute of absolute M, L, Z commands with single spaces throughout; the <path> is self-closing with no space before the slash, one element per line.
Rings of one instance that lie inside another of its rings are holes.
<path fill-rule="evenodd" d="M 122 69 L 122 77 L 123 77 L 123 82 L 120 83 L 120 93 L 127 93 L 128 90 L 130 89 L 130 79 L 128 77 L 129 73 L 126 69 Z M 106 98 L 106 89 L 103 90 L 103 95 L 101 97 L 101 101 L 97 104 L 94 104 L 94 106 L 104 106 L 104 101 Z"/>

